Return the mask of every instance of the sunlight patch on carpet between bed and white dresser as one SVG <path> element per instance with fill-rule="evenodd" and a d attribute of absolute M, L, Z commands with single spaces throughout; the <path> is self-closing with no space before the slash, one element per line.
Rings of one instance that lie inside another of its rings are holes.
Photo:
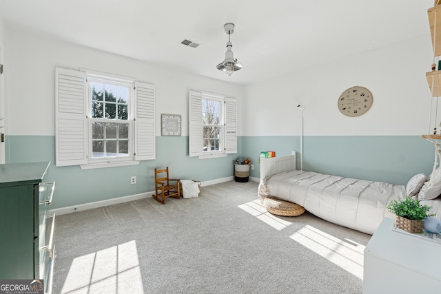
<path fill-rule="evenodd" d="M 309 225 L 290 238 L 363 280 L 364 245 L 349 239 L 340 240 Z"/>

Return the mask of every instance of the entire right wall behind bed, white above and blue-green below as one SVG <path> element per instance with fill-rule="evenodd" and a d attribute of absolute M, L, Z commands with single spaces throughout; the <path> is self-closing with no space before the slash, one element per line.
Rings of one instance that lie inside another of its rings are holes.
<path fill-rule="evenodd" d="M 300 152 L 303 134 L 305 170 L 401 185 L 417 173 L 430 174 L 433 143 L 421 138 L 432 129 L 427 32 L 245 85 L 242 153 L 257 162 L 260 151 Z M 405 70 L 397 61 L 406 61 Z M 338 98 L 354 85 L 371 90 L 373 105 L 349 117 L 338 110 Z M 251 176 L 259 176 L 258 168 Z"/>

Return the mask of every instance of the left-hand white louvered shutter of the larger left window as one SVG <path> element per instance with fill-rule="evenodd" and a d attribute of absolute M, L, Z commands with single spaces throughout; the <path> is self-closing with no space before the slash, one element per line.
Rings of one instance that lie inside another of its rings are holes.
<path fill-rule="evenodd" d="M 85 73 L 57 68 L 55 79 L 55 164 L 84 165 L 88 162 Z"/>

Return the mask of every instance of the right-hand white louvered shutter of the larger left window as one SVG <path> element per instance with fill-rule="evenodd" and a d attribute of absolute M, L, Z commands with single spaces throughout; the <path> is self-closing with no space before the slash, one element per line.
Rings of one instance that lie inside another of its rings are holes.
<path fill-rule="evenodd" d="M 156 158 L 154 85 L 135 82 L 135 160 Z"/>

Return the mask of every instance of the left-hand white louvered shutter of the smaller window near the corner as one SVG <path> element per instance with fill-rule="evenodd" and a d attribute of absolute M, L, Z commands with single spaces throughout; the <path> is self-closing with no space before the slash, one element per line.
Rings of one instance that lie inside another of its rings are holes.
<path fill-rule="evenodd" d="M 189 92 L 189 156 L 202 156 L 203 154 L 203 127 L 202 127 L 202 94 Z"/>

